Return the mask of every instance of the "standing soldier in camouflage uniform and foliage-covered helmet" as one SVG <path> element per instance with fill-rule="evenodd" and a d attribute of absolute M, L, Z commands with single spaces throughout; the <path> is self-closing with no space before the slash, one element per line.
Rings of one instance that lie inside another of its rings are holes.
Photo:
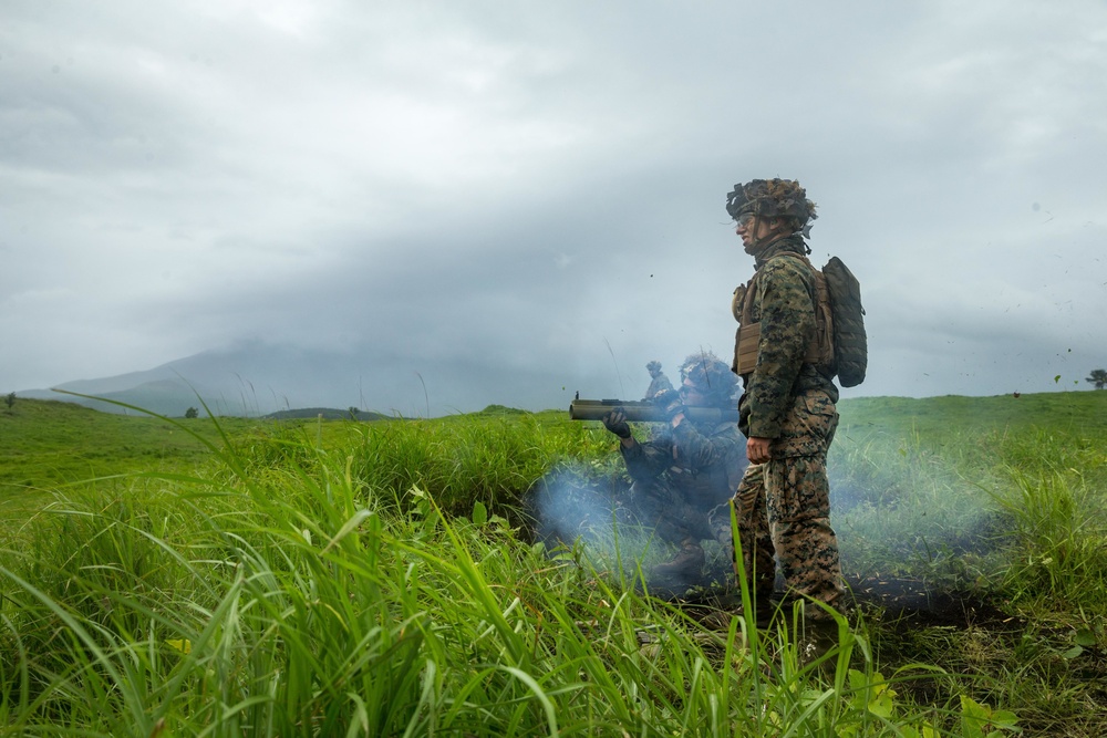
<path fill-rule="evenodd" d="M 815 204 L 798 181 L 754 179 L 735 185 L 726 211 L 755 270 L 744 293 L 735 291 L 733 368 L 743 382 L 738 427 L 749 467 L 734 506 L 745 574 L 764 602 L 775 554 L 789 593 L 837 606 L 841 568 L 826 458 L 838 388 L 831 366 L 817 357 L 818 298 L 804 240 Z M 818 607 L 807 613 L 826 616 Z"/>

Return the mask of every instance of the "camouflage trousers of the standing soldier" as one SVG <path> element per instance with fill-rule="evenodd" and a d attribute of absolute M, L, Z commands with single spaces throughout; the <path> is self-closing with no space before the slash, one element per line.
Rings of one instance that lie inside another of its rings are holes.
<path fill-rule="evenodd" d="M 830 527 L 826 468 L 826 451 L 837 425 L 838 414 L 829 397 L 800 396 L 784 435 L 774 443 L 772 458 L 747 467 L 738 485 L 733 500 L 742 553 L 738 561 L 751 590 L 761 596 L 773 591 L 775 563 L 779 563 L 790 593 L 838 604 L 841 565 L 838 539 Z M 816 619 L 823 614 L 808 613 Z"/>

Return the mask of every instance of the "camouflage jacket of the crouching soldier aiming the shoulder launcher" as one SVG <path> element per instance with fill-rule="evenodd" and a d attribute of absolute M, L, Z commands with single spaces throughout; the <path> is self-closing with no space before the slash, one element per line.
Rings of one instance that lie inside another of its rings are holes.
<path fill-rule="evenodd" d="M 734 495 L 747 464 L 745 441 L 733 422 L 702 426 L 685 419 L 651 440 L 620 449 L 634 481 L 672 485 L 705 507 Z"/>

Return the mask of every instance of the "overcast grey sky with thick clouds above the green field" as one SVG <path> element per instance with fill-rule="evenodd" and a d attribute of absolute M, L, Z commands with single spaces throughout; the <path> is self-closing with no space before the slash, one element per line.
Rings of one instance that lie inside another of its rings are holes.
<path fill-rule="evenodd" d="M 0 0 L 0 391 L 260 342 L 637 398 L 728 360 L 776 176 L 861 281 L 844 396 L 1107 367 L 1101 0 Z"/>

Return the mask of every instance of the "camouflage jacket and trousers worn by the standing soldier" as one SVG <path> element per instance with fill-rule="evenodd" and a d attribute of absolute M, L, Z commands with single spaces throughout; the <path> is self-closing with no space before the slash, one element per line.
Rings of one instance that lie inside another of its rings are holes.
<path fill-rule="evenodd" d="M 734 503 L 751 586 L 762 596 L 772 592 L 775 553 L 789 591 L 835 605 L 841 570 L 826 455 L 838 426 L 838 388 L 804 361 L 816 330 L 806 252 L 793 233 L 756 256 L 744 319 L 759 322 L 761 335 L 756 368 L 742 376 L 738 426 L 746 437 L 772 439 L 770 460 L 746 469 Z"/>

